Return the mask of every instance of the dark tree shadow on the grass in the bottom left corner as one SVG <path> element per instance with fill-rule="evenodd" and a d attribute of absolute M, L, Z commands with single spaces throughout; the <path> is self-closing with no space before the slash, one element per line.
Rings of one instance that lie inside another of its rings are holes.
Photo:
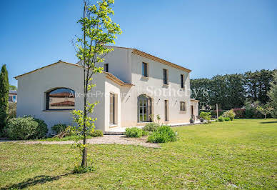
<path fill-rule="evenodd" d="M 0 189 L 24 189 L 29 186 L 35 186 L 36 184 L 45 184 L 48 181 L 55 181 L 60 179 L 63 176 L 68 176 L 69 174 L 72 174 L 72 173 L 62 174 L 59 176 L 45 176 L 45 175 L 35 176 L 34 178 L 27 179 L 26 181 L 22 181 L 18 184 L 11 184 L 10 186 L 6 186 Z"/>

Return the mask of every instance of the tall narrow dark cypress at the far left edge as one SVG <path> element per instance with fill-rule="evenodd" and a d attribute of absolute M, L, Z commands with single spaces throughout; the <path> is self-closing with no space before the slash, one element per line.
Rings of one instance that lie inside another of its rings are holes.
<path fill-rule="evenodd" d="M 6 126 L 9 116 L 9 76 L 4 64 L 0 74 L 0 132 Z"/>

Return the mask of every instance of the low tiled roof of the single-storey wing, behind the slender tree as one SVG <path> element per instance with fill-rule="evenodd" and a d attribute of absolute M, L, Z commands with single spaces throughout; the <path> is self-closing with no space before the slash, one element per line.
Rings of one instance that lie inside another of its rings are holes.
<path fill-rule="evenodd" d="M 44 69 L 44 68 L 49 67 L 49 66 L 54 66 L 54 65 L 59 64 L 59 63 L 64 63 L 64 64 L 69 64 L 69 65 L 72 65 L 72 66 L 83 67 L 83 66 L 78 65 L 78 64 L 71 64 L 71 63 L 68 63 L 68 62 L 59 60 L 58 62 L 56 62 L 56 63 L 54 63 L 54 64 L 49 64 L 49 65 L 43 66 L 43 67 L 41 67 L 41 68 L 39 68 L 39 69 L 35 69 L 34 71 L 29 71 L 29 72 L 27 72 L 27 73 L 25 73 L 25 74 L 21 74 L 21 75 L 19 75 L 19 76 L 15 76 L 14 79 L 17 80 L 17 79 L 19 79 L 19 77 L 21 77 L 21 76 L 25 76 L 25 75 L 27 75 L 27 74 L 34 73 L 34 72 L 36 72 L 36 71 L 39 71 L 39 70 Z M 134 86 L 134 84 L 129 84 L 129 83 L 126 83 L 126 82 L 124 82 L 124 81 L 121 81 L 121 79 L 119 79 L 119 78 L 117 78 L 116 76 L 114 76 L 114 74 L 111 74 L 111 73 L 108 73 L 108 72 L 105 72 L 105 71 L 103 71 L 103 73 L 106 74 L 106 78 L 110 79 L 111 81 L 116 82 L 116 84 L 119 84 L 119 85 L 121 85 L 121 86 Z"/>

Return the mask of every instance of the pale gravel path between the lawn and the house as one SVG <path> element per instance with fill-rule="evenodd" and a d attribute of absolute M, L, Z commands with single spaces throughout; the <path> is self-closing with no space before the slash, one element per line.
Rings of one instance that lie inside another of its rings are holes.
<path fill-rule="evenodd" d="M 0 141 L 1 142 L 1 141 Z M 19 142 L 19 141 L 11 141 Z M 22 144 L 74 144 L 75 141 L 21 141 Z M 126 138 L 124 135 L 104 135 L 87 139 L 88 144 L 131 144 L 150 148 L 161 148 L 158 144 L 146 142 L 146 137 Z"/>

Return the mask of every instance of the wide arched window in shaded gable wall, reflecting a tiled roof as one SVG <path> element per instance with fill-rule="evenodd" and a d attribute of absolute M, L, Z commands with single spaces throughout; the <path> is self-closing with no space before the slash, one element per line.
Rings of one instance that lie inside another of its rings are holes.
<path fill-rule="evenodd" d="M 46 93 L 46 110 L 71 110 L 74 106 L 74 90 L 59 88 Z"/>

